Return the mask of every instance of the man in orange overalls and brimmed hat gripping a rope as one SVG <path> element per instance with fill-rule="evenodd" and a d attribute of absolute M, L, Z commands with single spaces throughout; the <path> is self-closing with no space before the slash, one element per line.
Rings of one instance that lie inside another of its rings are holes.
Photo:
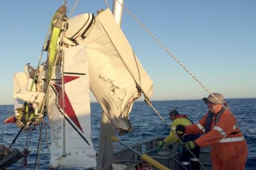
<path fill-rule="evenodd" d="M 213 170 L 244 170 L 248 156 L 247 143 L 223 95 L 212 93 L 203 98 L 203 101 L 209 108 L 208 113 L 197 124 L 178 124 L 177 133 L 205 133 L 194 140 L 194 145 L 191 145 L 191 142 L 185 145 L 190 149 L 196 145 L 211 145 Z"/>

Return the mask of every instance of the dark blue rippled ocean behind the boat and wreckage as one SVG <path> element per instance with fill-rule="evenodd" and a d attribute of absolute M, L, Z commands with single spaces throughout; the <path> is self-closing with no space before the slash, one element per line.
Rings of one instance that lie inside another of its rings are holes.
<path fill-rule="evenodd" d="M 229 107 L 238 120 L 238 126 L 245 136 L 248 144 L 248 159 L 246 163 L 246 169 L 256 169 L 256 98 L 244 98 L 244 99 L 228 99 Z M 171 124 L 169 120 L 168 112 L 172 109 L 177 109 L 180 114 L 186 114 L 194 123 L 203 117 L 207 112 L 207 106 L 202 100 L 177 100 L 177 101 L 152 101 L 152 105 L 155 110 L 164 118 L 162 120 L 155 111 L 149 107 L 143 101 L 136 101 L 133 105 L 132 112 L 130 113 L 130 122 L 135 127 L 130 134 L 124 134 L 118 136 L 119 139 L 126 143 L 126 145 L 139 142 L 141 140 L 149 139 L 153 136 L 160 134 L 168 135 L 168 124 Z M 1 133 L 1 144 L 5 146 L 11 145 L 15 139 L 19 129 L 15 124 L 2 123 L 8 114 L 11 112 L 12 105 L 0 105 L 0 128 L 4 129 Z M 97 150 L 98 134 L 100 129 L 101 108 L 97 102 L 91 103 L 91 124 L 92 124 L 92 141 L 95 143 L 94 148 Z M 49 130 L 47 130 L 49 132 Z M 43 139 L 41 141 L 40 148 L 40 164 L 36 165 L 37 146 L 39 146 L 39 128 L 33 131 L 31 135 L 30 154 L 27 158 L 27 165 L 23 166 L 23 159 L 8 167 L 7 169 L 49 169 L 49 150 L 47 149 L 46 139 L 49 142 L 49 136 L 44 137 L 46 131 L 42 130 Z M 17 138 L 13 148 L 23 149 L 25 146 L 25 136 L 23 133 Z M 116 143 L 115 147 L 120 147 Z M 70 168 L 63 168 L 70 169 Z"/>

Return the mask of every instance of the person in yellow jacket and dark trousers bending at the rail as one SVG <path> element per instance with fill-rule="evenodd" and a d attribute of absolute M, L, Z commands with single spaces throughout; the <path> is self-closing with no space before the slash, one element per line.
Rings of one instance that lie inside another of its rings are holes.
<path fill-rule="evenodd" d="M 177 110 L 170 111 L 169 118 L 172 120 L 171 130 L 169 132 L 169 135 L 164 140 L 158 142 L 158 146 L 162 147 L 165 143 L 179 143 L 180 141 L 182 141 L 180 149 L 180 162 L 183 165 L 182 169 L 200 169 L 200 164 L 198 161 L 200 147 L 194 146 L 193 149 L 191 149 L 191 147 L 187 145 L 188 143 L 186 143 L 188 141 L 196 140 L 199 135 L 183 134 L 182 136 L 178 136 L 176 133 L 176 126 L 178 124 L 183 124 L 184 126 L 186 126 L 192 124 L 193 121 L 191 121 L 186 115 L 180 115 Z M 193 142 L 191 142 L 191 145 L 193 145 Z M 191 154 L 190 151 L 193 154 Z"/>

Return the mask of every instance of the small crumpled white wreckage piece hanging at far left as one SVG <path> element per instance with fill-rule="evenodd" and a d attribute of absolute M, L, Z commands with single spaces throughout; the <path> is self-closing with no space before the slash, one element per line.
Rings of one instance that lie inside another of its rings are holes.
<path fill-rule="evenodd" d="M 28 127 L 37 123 L 35 118 L 40 118 L 38 111 L 43 103 L 44 93 L 37 91 L 33 80 L 35 69 L 30 65 L 24 66 L 24 72 L 14 73 L 13 95 L 14 116 L 19 128 Z"/>

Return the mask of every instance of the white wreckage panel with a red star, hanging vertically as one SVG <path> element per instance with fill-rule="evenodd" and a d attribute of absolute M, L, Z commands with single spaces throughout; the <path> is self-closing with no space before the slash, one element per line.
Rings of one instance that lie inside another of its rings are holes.
<path fill-rule="evenodd" d="M 64 49 L 62 58 L 53 67 L 46 102 L 50 166 L 91 168 L 96 165 L 96 153 L 91 139 L 86 45 Z"/>

